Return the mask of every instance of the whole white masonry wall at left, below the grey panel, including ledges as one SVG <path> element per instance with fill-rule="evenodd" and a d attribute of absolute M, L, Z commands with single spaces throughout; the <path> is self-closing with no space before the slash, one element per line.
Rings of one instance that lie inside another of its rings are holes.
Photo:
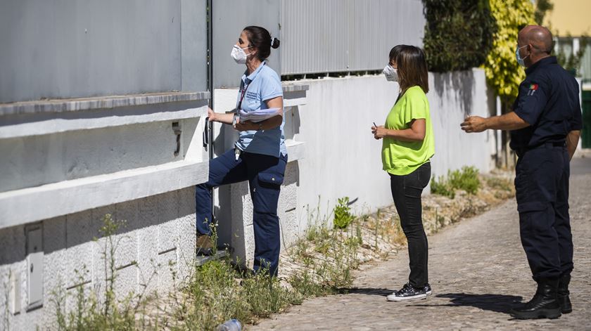
<path fill-rule="evenodd" d="M 70 294 L 69 309 L 80 287 L 104 292 L 106 239 L 94 238 L 105 214 L 126 221 L 114 237 L 120 299 L 144 289 L 165 293 L 173 274 L 177 283 L 189 275 L 194 185 L 207 181 L 209 169 L 202 136 L 208 98 L 0 104 L 0 330 L 51 328 L 53 292 Z M 173 123 L 181 130 L 177 155 Z M 40 229 L 37 244 L 30 228 Z"/>

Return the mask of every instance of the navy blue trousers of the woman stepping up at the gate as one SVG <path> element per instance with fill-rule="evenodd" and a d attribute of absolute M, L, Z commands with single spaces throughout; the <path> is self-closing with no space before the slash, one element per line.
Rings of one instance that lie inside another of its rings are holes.
<path fill-rule="evenodd" d="M 268 268 L 271 275 L 277 275 L 281 249 L 277 202 L 286 164 L 287 155 L 272 157 L 243 152 L 236 160 L 234 150 L 229 150 L 210 160 L 208 182 L 196 186 L 197 232 L 209 235 L 212 219 L 210 189 L 248 180 L 253 200 L 255 272 Z"/>

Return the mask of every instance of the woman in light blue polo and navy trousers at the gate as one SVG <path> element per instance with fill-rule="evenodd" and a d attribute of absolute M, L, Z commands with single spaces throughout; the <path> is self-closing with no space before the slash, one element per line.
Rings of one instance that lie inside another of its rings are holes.
<path fill-rule="evenodd" d="M 277 275 L 279 265 L 279 217 L 277 202 L 287 164 L 284 138 L 283 89 L 281 79 L 267 66 L 271 48 L 279 39 L 262 27 L 249 26 L 241 32 L 231 51 L 236 63 L 246 65 L 236 100 L 236 114 L 208 110 L 212 122 L 229 124 L 239 131 L 234 149 L 210 160 L 207 183 L 196 187 L 198 251 L 211 250 L 211 188 L 248 181 L 253 200 L 255 234 L 254 271 Z M 239 114 L 255 110 L 277 110 L 261 122 L 241 121 Z"/>

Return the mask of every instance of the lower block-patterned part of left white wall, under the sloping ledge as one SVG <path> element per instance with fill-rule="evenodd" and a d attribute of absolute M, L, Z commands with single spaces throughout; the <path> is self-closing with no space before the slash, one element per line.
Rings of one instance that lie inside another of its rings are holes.
<path fill-rule="evenodd" d="M 195 190 L 185 188 L 108 207 L 59 216 L 41 221 L 43 231 L 43 303 L 39 309 L 27 310 L 27 254 L 25 226 L 0 230 L 0 330 L 53 330 L 55 306 L 53 291 L 68 293 L 68 309 L 75 307 L 79 287 L 105 289 L 105 261 L 100 238 L 102 217 L 127 220 L 117 231 L 121 240 L 115 253 L 117 278 L 115 292 L 122 299 L 129 293 L 172 288 L 172 273 L 177 281 L 189 275 L 195 249 Z M 170 265 L 172 264 L 172 265 Z M 77 272 L 79 271 L 79 272 Z M 18 283 L 11 282 L 11 277 Z M 80 275 L 80 277 L 79 277 Z M 16 276 L 16 277 L 15 277 Z M 20 298 L 13 309 L 13 288 Z M 7 294 L 7 295 L 5 295 Z"/>

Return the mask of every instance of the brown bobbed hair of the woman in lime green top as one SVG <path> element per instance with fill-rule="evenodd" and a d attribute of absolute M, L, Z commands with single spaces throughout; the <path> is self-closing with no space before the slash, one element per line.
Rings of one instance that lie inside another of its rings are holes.
<path fill-rule="evenodd" d="M 400 45 L 396 56 L 398 67 L 398 83 L 400 93 L 404 94 L 409 87 L 421 86 L 425 93 L 429 91 L 429 78 L 425 53 L 419 47 Z"/>

